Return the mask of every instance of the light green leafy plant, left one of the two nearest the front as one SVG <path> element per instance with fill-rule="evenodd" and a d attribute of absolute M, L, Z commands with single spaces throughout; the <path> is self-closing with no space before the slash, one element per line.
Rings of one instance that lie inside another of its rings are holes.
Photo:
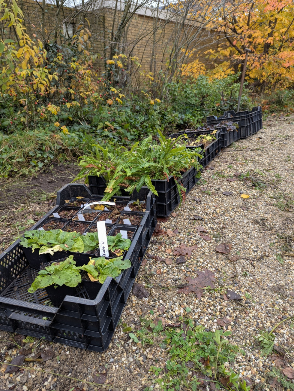
<path fill-rule="evenodd" d="M 40 270 L 28 292 L 34 293 L 37 289 L 46 288 L 50 285 L 76 287 L 81 281 L 80 271 L 75 265 L 73 255 L 69 255 L 66 260 L 53 262 L 45 269 Z"/>

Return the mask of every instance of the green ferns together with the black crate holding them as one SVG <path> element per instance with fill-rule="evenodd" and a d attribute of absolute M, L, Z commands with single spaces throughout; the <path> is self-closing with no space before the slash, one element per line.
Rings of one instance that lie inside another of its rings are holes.
<path fill-rule="evenodd" d="M 195 173 L 200 169 L 201 148 L 187 150 L 185 145 L 178 145 L 179 140 L 166 138 L 159 131 L 159 142 L 149 136 L 136 142 L 130 150 L 124 149 L 118 157 L 112 156 L 116 161 L 109 160 L 110 155 L 103 152 L 103 158 L 101 154 L 91 157 L 91 167 L 85 167 L 85 162 L 90 160 L 83 156 L 79 162 L 83 168 L 74 180 L 93 173 L 94 165 L 99 174 L 107 171 L 103 201 L 118 195 L 121 187 L 129 194 L 134 193 L 135 199 L 136 192 L 146 186 L 156 195 L 157 214 L 169 215 L 185 197 L 187 187 L 183 178 L 190 189 L 195 183 Z M 100 146 L 98 149 L 102 151 Z"/>

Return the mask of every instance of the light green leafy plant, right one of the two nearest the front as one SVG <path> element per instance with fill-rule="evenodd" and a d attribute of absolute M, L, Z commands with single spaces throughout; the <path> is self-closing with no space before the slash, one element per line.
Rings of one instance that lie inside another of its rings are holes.
<path fill-rule="evenodd" d="M 103 284 L 107 277 L 117 277 L 122 270 L 131 267 L 129 259 L 123 260 L 123 257 L 105 259 L 104 256 L 100 258 L 91 258 L 87 265 L 78 267 L 79 270 L 84 270 L 88 273 L 91 281 L 99 281 Z"/>

